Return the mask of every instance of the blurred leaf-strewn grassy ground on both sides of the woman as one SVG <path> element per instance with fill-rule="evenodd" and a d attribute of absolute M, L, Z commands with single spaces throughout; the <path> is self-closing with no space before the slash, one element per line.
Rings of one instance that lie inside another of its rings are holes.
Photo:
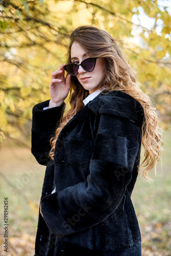
<path fill-rule="evenodd" d="M 155 181 L 151 184 L 138 177 L 132 200 L 142 236 L 143 256 L 170 255 L 171 251 L 171 129 L 163 133 L 164 154 Z M 9 203 L 8 255 L 34 255 L 34 242 L 38 221 L 38 207 L 45 166 L 39 165 L 28 148 L 16 147 L 5 141 L 0 145 L 1 160 L 1 216 L 0 254 L 4 252 L 4 198 Z"/>

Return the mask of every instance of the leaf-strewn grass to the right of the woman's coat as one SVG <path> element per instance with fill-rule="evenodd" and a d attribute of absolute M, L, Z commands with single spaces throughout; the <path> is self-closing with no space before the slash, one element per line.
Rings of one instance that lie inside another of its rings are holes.
<path fill-rule="evenodd" d="M 157 166 L 157 175 L 152 171 L 149 176 L 154 180 L 147 183 L 138 177 L 133 190 L 132 201 L 136 210 L 141 236 L 142 255 L 171 255 L 171 129 L 162 136 L 163 157 Z"/>

